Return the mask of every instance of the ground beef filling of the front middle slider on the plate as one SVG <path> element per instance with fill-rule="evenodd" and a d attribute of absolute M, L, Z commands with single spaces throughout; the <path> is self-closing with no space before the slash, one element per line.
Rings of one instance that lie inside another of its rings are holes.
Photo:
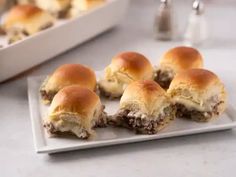
<path fill-rule="evenodd" d="M 163 114 L 157 118 L 147 117 L 145 114 L 130 110 L 120 110 L 115 119 L 109 121 L 115 126 L 126 127 L 137 134 L 156 134 L 162 127 L 175 118 L 175 106 L 171 105 L 164 109 Z"/>

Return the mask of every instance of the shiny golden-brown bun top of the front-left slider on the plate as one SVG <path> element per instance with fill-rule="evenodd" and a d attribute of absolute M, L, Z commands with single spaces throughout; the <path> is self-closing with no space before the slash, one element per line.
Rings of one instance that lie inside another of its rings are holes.
<path fill-rule="evenodd" d="M 81 118 L 90 117 L 101 104 L 99 97 L 91 90 L 81 86 L 68 86 L 60 90 L 52 100 L 50 114 L 79 114 Z"/>

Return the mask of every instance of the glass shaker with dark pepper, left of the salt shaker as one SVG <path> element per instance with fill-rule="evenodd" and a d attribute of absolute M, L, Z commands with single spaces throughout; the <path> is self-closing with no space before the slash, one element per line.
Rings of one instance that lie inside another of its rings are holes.
<path fill-rule="evenodd" d="M 161 0 L 154 19 L 154 37 L 159 40 L 171 40 L 174 37 L 173 9 L 171 0 Z"/>

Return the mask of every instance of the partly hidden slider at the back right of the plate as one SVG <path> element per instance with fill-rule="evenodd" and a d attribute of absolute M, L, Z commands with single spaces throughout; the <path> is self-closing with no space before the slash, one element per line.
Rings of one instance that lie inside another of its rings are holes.
<path fill-rule="evenodd" d="M 154 79 L 162 88 L 167 89 L 176 73 L 202 66 L 202 56 L 196 49 L 175 47 L 162 56 Z"/>

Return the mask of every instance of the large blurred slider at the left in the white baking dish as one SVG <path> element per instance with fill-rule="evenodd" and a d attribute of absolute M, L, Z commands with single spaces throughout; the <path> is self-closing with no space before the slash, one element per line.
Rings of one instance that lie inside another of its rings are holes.
<path fill-rule="evenodd" d="M 53 25 L 55 19 L 46 11 L 34 5 L 12 7 L 3 19 L 3 27 L 10 39 L 24 34 L 32 35 Z"/>

